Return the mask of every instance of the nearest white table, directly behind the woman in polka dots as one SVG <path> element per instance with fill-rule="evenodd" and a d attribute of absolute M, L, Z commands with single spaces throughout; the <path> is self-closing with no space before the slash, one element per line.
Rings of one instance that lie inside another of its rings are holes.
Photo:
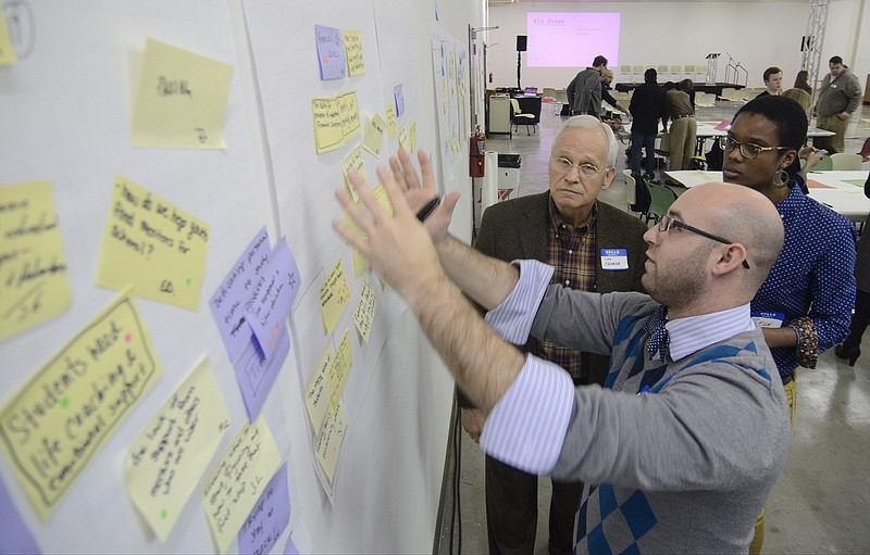
<path fill-rule="evenodd" d="M 721 181 L 722 172 L 664 172 L 683 187 L 692 188 L 709 181 Z M 853 222 L 863 222 L 870 213 L 870 199 L 863 195 L 867 171 L 810 172 L 807 174 L 809 197 Z"/>

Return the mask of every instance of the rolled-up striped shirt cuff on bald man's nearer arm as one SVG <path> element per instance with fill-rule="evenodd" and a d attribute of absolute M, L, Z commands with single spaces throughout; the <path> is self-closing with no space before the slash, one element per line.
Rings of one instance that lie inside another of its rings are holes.
<path fill-rule="evenodd" d="M 546 475 L 559 461 L 574 404 L 574 382 L 558 365 L 529 355 L 481 434 L 489 456 L 529 474 Z"/>

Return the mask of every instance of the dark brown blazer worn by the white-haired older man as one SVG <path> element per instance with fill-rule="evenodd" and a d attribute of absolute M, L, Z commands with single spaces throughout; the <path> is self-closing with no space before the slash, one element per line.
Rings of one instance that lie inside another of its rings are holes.
<path fill-rule="evenodd" d="M 481 229 L 474 248 L 480 252 L 506 262 L 513 260 L 537 260 L 547 262 L 547 228 L 549 222 L 549 191 L 520 197 L 489 206 L 483 214 Z M 625 249 L 629 254 L 629 268 L 605 270 L 598 258 L 595 291 L 644 291 L 641 276 L 646 261 L 646 225 L 638 218 L 598 202 L 598 216 L 595 219 L 596 250 Z M 538 341 L 531 339 L 522 350 L 538 353 Z M 610 358 L 599 354 L 588 354 L 589 383 L 604 384 Z M 470 400 L 457 391 L 459 405 L 463 408 L 474 406 Z"/>

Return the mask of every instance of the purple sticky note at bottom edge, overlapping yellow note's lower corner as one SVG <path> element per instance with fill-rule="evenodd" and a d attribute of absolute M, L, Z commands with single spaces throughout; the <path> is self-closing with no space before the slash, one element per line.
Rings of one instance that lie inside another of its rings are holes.
<path fill-rule="evenodd" d="M 287 463 L 284 463 L 269 480 L 248 520 L 238 531 L 238 552 L 269 553 L 289 522 L 290 490 L 287 487 Z"/>

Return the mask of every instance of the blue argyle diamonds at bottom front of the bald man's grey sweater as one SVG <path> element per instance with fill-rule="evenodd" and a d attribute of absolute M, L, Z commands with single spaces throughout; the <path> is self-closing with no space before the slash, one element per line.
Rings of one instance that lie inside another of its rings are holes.
<path fill-rule="evenodd" d="M 598 503 L 589 506 L 589 500 Z M 598 515 L 591 512 L 596 510 Z M 597 522 L 587 528 L 587 522 Z M 576 552 L 600 554 L 641 553 L 637 542 L 657 524 L 646 495 L 638 490 L 614 490 L 602 483 L 589 488 L 577 510 Z"/>

